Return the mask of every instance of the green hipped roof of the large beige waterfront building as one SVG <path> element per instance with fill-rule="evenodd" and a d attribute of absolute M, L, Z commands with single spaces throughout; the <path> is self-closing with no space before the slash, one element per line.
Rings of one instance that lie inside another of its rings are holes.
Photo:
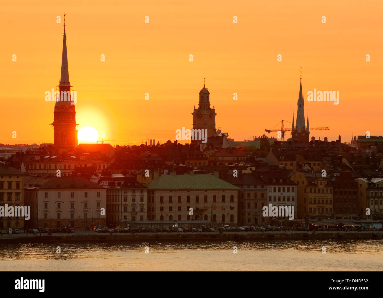
<path fill-rule="evenodd" d="M 235 185 L 208 174 L 163 174 L 145 185 L 149 189 L 238 189 Z"/>

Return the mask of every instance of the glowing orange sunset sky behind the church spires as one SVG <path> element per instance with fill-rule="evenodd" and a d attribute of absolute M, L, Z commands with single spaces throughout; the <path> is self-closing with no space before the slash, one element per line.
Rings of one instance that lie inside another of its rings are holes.
<path fill-rule="evenodd" d="M 382 10 L 381 1 L 3 0 L 0 143 L 53 142 L 44 92 L 59 84 L 64 12 L 78 128 L 105 131 L 113 145 L 191 129 L 204 77 L 216 128 L 236 141 L 259 136 L 291 122 L 300 67 L 310 127 L 330 127 L 330 140 L 381 135 Z M 308 102 L 314 88 L 339 91 L 339 105 Z"/>

